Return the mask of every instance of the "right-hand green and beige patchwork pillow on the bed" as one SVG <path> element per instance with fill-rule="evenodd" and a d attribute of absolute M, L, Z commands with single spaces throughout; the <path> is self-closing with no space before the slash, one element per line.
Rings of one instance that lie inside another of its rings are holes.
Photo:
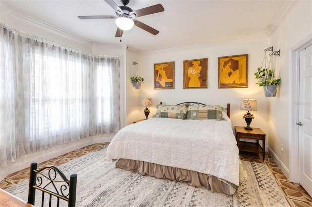
<path fill-rule="evenodd" d="M 225 108 L 219 105 L 190 105 L 187 119 L 190 120 L 224 120 L 222 111 Z"/>

